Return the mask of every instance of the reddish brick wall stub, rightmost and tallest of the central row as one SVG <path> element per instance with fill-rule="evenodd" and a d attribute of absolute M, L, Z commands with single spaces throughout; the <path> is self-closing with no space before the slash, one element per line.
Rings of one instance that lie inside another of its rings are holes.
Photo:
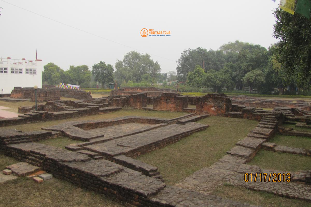
<path fill-rule="evenodd" d="M 223 93 L 209 93 L 196 98 L 196 114 L 222 116 L 231 110 L 231 100 Z"/>

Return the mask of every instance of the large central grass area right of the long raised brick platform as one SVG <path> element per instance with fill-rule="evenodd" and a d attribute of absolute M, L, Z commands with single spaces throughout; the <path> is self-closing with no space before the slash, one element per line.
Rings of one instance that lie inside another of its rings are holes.
<path fill-rule="evenodd" d="M 173 185 L 215 163 L 258 124 L 253 120 L 219 116 L 208 117 L 198 123 L 210 124 L 210 127 L 137 159 L 158 167 L 165 183 Z"/>

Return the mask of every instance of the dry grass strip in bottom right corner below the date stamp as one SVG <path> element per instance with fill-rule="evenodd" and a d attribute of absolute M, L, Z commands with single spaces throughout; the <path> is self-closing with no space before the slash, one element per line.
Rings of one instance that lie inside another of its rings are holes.
<path fill-rule="evenodd" d="M 311 206 L 311 202 L 309 201 L 284 198 L 263 191 L 251 191 L 244 187 L 237 187 L 230 184 L 224 184 L 220 187 L 217 187 L 212 192 L 212 194 L 215 196 L 220 196 L 222 198 L 239 201 L 241 203 L 248 203 L 258 206 L 269 206 L 269 207 Z"/>

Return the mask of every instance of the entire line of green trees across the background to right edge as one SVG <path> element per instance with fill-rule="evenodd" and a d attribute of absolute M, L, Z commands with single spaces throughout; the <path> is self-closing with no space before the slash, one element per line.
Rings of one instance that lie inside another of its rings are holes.
<path fill-rule="evenodd" d="M 86 65 L 70 66 L 64 71 L 54 63 L 44 66 L 44 83 L 59 82 L 101 87 L 117 80 L 119 85 L 127 83 L 163 83 L 178 80 L 192 88 L 221 90 L 243 90 L 248 87 L 262 94 L 278 88 L 293 94 L 308 92 L 311 83 L 311 21 L 295 13 L 291 15 L 281 9 L 274 11 L 276 23 L 273 36 L 279 42 L 269 48 L 241 42 L 223 44 L 218 50 L 202 47 L 187 49 L 176 61 L 176 71 L 160 73 L 161 67 L 149 54 L 128 52 L 114 67 L 104 61 L 90 68 Z M 167 76 L 166 76 L 167 75 Z M 165 84 L 163 84 L 165 85 Z"/>

